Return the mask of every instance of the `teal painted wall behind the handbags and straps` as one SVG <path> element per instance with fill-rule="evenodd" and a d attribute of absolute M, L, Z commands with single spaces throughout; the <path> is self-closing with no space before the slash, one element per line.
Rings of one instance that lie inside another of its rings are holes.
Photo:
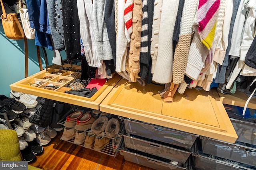
<path fill-rule="evenodd" d="M 52 64 L 53 51 L 46 48 L 48 65 Z M 40 48 L 42 66 L 46 64 Z M 61 51 L 62 59 L 66 54 Z M 40 71 L 36 53 L 35 40 L 28 39 L 28 76 Z M 0 94 L 10 97 L 10 84 L 22 80 L 25 77 L 25 53 L 23 40 L 8 39 L 4 35 L 2 23 L 0 23 Z"/>

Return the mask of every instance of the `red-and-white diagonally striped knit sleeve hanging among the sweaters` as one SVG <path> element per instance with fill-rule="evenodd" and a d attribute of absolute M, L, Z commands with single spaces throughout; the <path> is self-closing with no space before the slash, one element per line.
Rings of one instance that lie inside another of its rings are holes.
<path fill-rule="evenodd" d="M 125 35 L 128 43 L 131 41 L 132 34 L 132 10 L 133 10 L 134 0 L 125 0 L 124 5 L 124 23 L 125 23 Z"/>

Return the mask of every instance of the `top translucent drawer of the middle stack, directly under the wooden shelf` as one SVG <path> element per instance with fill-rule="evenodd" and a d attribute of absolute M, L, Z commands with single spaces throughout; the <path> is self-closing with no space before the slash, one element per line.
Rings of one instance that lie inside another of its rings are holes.
<path fill-rule="evenodd" d="M 124 119 L 124 125 L 126 133 L 189 149 L 199 136 L 130 118 Z"/>

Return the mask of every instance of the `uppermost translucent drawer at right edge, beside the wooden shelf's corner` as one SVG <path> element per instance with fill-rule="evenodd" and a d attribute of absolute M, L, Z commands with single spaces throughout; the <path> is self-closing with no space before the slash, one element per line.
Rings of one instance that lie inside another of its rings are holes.
<path fill-rule="evenodd" d="M 238 135 L 237 141 L 256 145 L 256 123 L 230 118 Z"/>

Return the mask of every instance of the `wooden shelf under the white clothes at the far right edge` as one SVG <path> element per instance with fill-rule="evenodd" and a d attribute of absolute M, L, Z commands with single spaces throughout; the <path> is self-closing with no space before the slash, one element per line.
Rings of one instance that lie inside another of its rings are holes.
<path fill-rule="evenodd" d="M 218 92 L 223 104 L 244 107 L 246 100 L 249 98 L 246 94 L 236 90 L 235 94 L 222 94 Z M 256 98 L 252 98 L 247 105 L 248 108 L 256 109 Z"/>

